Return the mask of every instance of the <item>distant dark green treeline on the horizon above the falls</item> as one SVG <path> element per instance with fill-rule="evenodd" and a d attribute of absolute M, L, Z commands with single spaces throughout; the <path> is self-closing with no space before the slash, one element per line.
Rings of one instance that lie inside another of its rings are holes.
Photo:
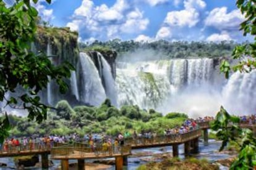
<path fill-rule="evenodd" d="M 245 42 L 247 44 L 247 42 Z M 166 41 L 158 40 L 154 42 L 137 42 L 134 40 L 121 41 L 113 39 L 106 42 L 94 41 L 92 44 L 79 43 L 82 50 L 86 49 L 112 49 L 119 54 L 135 52 L 137 50 L 158 51 L 166 55 L 166 58 L 187 58 L 187 57 L 229 57 L 232 55 L 234 47 L 238 44 L 234 41 L 215 42 L 188 42 L 188 41 Z M 120 55 L 121 56 L 121 55 Z"/>

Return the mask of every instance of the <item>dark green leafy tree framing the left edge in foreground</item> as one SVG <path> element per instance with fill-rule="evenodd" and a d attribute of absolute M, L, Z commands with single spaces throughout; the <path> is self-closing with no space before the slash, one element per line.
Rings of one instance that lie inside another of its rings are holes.
<path fill-rule="evenodd" d="M 30 51 L 37 18 L 38 12 L 29 0 L 16 0 L 11 7 L 0 0 L 0 101 L 6 101 L 12 108 L 27 110 L 28 118 L 40 123 L 47 117 L 48 106 L 40 102 L 38 92 L 47 87 L 49 78 L 58 83 L 61 93 L 66 92 L 68 86 L 64 78 L 70 77 L 74 67 L 68 62 L 54 66 L 45 54 L 35 55 Z M 7 92 L 15 93 L 18 88 L 23 89 L 22 94 L 5 97 Z M 0 144 L 10 128 L 6 113 L 0 120 Z"/>

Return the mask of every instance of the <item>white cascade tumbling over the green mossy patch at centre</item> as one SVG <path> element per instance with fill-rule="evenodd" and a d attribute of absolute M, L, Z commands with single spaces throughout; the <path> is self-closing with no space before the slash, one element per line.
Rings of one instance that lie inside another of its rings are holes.
<path fill-rule="evenodd" d="M 138 62 L 117 69 L 119 105 L 155 108 L 171 89 L 166 76 L 168 61 Z"/>

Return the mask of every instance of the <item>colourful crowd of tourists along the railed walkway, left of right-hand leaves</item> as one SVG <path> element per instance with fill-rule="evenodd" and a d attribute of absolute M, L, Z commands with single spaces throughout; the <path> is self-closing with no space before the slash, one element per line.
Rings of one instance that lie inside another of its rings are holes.
<path fill-rule="evenodd" d="M 182 126 L 174 127 L 173 129 L 165 129 L 163 134 L 167 139 L 184 134 L 190 131 L 198 129 L 198 123 L 203 121 L 211 121 L 213 117 L 206 116 L 205 118 L 198 119 L 186 119 Z M 54 144 L 70 144 L 74 142 L 80 142 L 87 144 L 88 147 L 95 150 L 96 147 L 101 146 L 103 148 L 113 147 L 115 151 L 121 145 L 124 145 L 124 140 L 132 142 L 152 142 L 155 141 L 158 134 L 153 131 L 134 131 L 130 134 L 128 131 L 124 134 L 119 133 L 117 136 L 107 136 L 105 134 L 86 134 L 80 137 L 78 134 L 69 134 L 67 136 L 38 136 L 38 137 L 22 137 L 17 139 L 6 139 L 2 145 L 2 152 L 19 152 L 22 150 L 48 150 L 53 147 Z M 129 140 L 128 140 L 129 139 Z M 126 143 L 127 143 L 126 141 Z"/>

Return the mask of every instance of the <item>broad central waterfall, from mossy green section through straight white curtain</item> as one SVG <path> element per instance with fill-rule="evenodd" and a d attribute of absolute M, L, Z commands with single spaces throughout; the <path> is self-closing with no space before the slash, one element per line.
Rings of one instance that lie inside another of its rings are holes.
<path fill-rule="evenodd" d="M 139 105 L 168 111 L 184 111 L 192 114 L 205 112 L 202 107 L 214 89 L 212 59 L 172 59 L 126 63 L 117 69 L 117 95 L 119 105 Z M 207 89 L 207 97 L 191 99 L 190 94 L 201 95 Z M 197 93 L 197 94 L 196 94 Z M 209 94 L 209 95 L 208 95 Z M 184 102 L 184 105 L 182 105 Z M 192 108 L 191 102 L 197 102 Z M 218 102 L 215 102 L 218 103 Z M 200 107 L 203 110 L 200 110 Z M 218 108 L 218 107 L 217 107 Z"/>

